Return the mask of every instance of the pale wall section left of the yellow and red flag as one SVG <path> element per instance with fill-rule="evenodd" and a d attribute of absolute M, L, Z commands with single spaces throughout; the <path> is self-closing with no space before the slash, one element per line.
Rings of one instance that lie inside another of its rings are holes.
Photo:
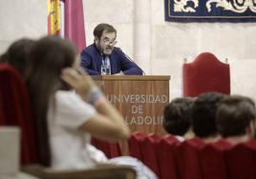
<path fill-rule="evenodd" d="M 42 0 L 0 0 L 0 53 L 18 38 L 47 34 L 46 7 Z"/>

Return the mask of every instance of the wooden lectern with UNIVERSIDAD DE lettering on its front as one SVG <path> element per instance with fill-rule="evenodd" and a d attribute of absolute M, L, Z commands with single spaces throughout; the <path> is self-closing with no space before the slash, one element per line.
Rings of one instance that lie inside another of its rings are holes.
<path fill-rule="evenodd" d="M 163 109 L 169 103 L 170 76 L 93 76 L 131 131 L 163 134 Z"/>

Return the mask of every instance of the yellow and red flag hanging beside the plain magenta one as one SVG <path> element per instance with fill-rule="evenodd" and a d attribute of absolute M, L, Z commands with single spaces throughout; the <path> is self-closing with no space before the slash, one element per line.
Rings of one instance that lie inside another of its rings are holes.
<path fill-rule="evenodd" d="M 59 0 L 47 0 L 48 34 L 60 35 L 60 4 Z"/>

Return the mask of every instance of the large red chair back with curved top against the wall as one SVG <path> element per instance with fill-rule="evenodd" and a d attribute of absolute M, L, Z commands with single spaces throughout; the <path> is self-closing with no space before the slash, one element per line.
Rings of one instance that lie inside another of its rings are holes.
<path fill-rule="evenodd" d="M 210 53 L 203 52 L 188 64 L 183 64 L 183 96 L 195 97 L 207 91 L 230 94 L 229 65 Z"/>

